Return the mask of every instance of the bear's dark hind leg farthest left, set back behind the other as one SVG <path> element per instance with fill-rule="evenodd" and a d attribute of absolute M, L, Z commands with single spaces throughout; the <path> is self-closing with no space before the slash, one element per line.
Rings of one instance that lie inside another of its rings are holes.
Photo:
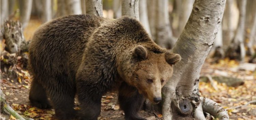
<path fill-rule="evenodd" d="M 29 100 L 32 106 L 35 106 L 41 109 L 47 109 L 52 107 L 46 96 L 45 89 L 38 82 L 37 79 L 33 79 L 31 83 L 31 87 L 29 91 Z"/>

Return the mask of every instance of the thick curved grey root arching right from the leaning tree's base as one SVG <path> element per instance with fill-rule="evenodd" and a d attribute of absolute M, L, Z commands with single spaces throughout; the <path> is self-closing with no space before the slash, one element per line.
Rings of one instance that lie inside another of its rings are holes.
<path fill-rule="evenodd" d="M 204 112 L 207 112 L 220 120 L 229 120 L 227 111 L 218 105 L 218 103 L 204 97 L 200 97 L 200 99 L 202 101 L 201 104 Z"/>

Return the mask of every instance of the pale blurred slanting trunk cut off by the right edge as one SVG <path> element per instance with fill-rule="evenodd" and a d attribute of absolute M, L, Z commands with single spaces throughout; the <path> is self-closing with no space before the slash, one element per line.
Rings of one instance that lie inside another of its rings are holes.
<path fill-rule="evenodd" d="M 255 44 L 255 41 L 256 41 L 256 12 L 254 12 L 254 14 L 255 15 L 253 18 L 253 24 L 252 24 L 252 27 L 250 28 L 251 33 L 249 37 L 249 42 L 247 43 L 248 53 L 251 56 L 255 54 L 253 45 Z"/>

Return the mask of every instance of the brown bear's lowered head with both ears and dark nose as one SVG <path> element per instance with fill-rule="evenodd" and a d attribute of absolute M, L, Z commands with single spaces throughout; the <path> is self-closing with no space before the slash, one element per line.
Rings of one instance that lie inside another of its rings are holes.
<path fill-rule="evenodd" d="M 150 48 L 151 46 L 146 48 L 138 45 L 133 49 L 131 58 L 133 65 L 130 66 L 132 74 L 126 77 L 126 82 L 135 86 L 140 94 L 156 104 L 162 100 L 161 88 L 171 78 L 173 65 L 181 60 L 181 56 L 170 50 L 162 49 L 161 52 L 154 52 Z"/>

